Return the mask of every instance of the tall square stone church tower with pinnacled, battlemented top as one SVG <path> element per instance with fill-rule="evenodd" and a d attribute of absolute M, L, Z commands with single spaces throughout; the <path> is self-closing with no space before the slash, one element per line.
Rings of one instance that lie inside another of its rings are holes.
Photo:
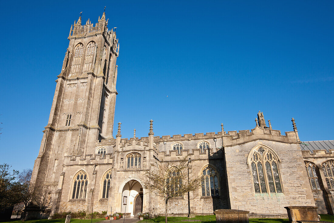
<path fill-rule="evenodd" d="M 69 45 L 51 106 L 32 181 L 56 182 L 64 155 L 95 154 L 97 142 L 113 138 L 116 102 L 116 30 L 108 30 L 105 12 L 95 26 L 81 14 L 69 31 Z"/>

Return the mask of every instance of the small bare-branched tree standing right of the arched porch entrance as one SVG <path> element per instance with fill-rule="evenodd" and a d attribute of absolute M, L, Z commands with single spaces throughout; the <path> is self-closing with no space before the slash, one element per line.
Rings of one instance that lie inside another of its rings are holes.
<path fill-rule="evenodd" d="M 143 187 L 165 201 L 165 222 L 167 223 L 168 200 L 182 197 L 188 192 L 198 189 L 202 176 L 190 178 L 188 165 L 191 162 L 188 156 L 179 159 L 170 166 L 169 162 L 156 160 L 151 170 L 146 170 L 142 178 Z"/>

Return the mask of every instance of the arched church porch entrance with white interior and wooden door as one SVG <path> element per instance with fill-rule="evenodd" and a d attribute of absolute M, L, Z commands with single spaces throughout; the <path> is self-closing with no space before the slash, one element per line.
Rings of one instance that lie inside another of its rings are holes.
<path fill-rule="evenodd" d="M 143 212 L 143 187 L 135 179 L 125 183 L 122 190 L 121 212 L 130 213 L 131 216 Z"/>

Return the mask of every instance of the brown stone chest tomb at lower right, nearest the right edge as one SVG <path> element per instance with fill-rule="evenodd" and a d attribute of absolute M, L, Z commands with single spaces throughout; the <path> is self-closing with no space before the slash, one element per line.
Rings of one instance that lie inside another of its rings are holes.
<path fill-rule="evenodd" d="M 313 206 L 289 206 L 287 209 L 289 222 L 297 221 L 319 221 L 317 207 Z"/>

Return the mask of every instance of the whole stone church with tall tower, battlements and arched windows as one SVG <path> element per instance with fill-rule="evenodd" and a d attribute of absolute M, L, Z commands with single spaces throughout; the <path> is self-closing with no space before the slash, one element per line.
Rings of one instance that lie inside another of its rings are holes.
<path fill-rule="evenodd" d="M 267 126 L 260 111 L 251 130 L 225 132 L 221 124 L 219 132 L 160 137 L 151 120 L 148 136 L 122 138 L 121 123 L 114 134 L 120 45 L 107 25 L 105 13 L 95 26 L 80 16 L 69 30 L 31 179 L 52 188 L 50 215 L 163 214 L 165 203 L 143 187 L 143 173 L 154 162 L 173 165 L 187 155 L 189 177 L 204 177 L 198 191 L 169 200 L 169 213 L 240 209 L 270 216 L 307 205 L 333 214 L 334 140 L 301 142 L 294 119 L 284 134 L 270 120 Z"/>

